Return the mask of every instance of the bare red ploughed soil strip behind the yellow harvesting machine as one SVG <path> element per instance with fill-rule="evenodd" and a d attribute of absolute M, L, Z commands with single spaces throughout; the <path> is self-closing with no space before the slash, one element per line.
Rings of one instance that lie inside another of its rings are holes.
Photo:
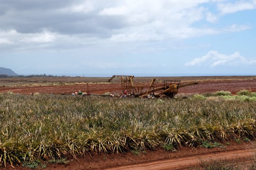
<path fill-rule="evenodd" d="M 160 84 L 159 84 L 160 86 Z M 250 90 L 256 92 L 256 79 L 252 80 L 234 80 L 234 81 L 211 81 L 200 82 L 198 85 L 187 86 L 179 89 L 180 93 L 195 94 L 205 92 L 217 92 L 220 90 L 230 91 L 232 94 L 239 92 L 240 90 Z M 0 92 L 14 92 L 20 94 L 29 93 L 72 93 L 79 90 L 87 92 L 87 85 L 59 85 L 59 86 L 31 86 L 31 87 L 0 87 Z M 119 94 L 122 92 L 121 84 L 90 84 L 89 91 L 92 94 L 103 94 L 104 92 L 110 92 L 113 94 Z"/>

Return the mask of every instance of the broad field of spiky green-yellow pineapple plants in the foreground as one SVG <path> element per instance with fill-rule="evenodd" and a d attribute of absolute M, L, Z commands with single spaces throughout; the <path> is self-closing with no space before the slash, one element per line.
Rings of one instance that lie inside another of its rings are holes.
<path fill-rule="evenodd" d="M 253 100 L 0 94 L 0 162 L 252 139 Z"/>

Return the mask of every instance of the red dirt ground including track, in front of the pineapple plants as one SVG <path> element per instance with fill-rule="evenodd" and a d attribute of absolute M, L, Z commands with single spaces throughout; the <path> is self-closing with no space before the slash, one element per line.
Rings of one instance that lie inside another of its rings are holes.
<path fill-rule="evenodd" d="M 184 169 L 199 166 L 201 161 L 212 159 L 237 160 L 238 163 L 243 161 L 252 161 L 254 158 L 255 142 L 243 142 L 237 144 L 230 142 L 227 148 L 206 149 L 202 147 L 188 148 L 183 147 L 175 152 L 167 152 L 161 149 L 156 151 L 148 150 L 146 154 L 135 156 L 130 152 L 126 154 L 92 154 L 85 155 L 83 158 L 69 159 L 69 163 L 65 165 L 47 164 L 46 169 L 63 169 L 63 170 L 83 170 L 83 169 Z M 22 166 L 16 169 L 27 170 Z M 12 169 L 10 165 L 6 169 Z"/>

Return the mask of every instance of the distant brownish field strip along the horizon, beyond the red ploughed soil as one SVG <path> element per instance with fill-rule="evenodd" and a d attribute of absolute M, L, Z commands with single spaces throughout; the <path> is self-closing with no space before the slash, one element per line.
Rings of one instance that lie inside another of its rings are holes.
<path fill-rule="evenodd" d="M 111 75 L 109 76 L 109 78 Z M 51 85 L 56 83 L 60 84 L 75 84 L 75 83 L 106 83 L 108 77 L 93 78 L 93 77 L 33 77 L 33 78 L 0 78 L 0 87 L 3 86 L 33 86 L 33 85 Z M 196 77 L 135 77 L 134 81 L 146 82 L 152 78 L 160 80 L 181 80 L 186 81 L 219 81 L 219 80 L 250 80 L 256 79 L 256 76 L 196 76 Z M 111 80 L 113 83 L 119 83 L 120 79 L 114 78 Z"/>

